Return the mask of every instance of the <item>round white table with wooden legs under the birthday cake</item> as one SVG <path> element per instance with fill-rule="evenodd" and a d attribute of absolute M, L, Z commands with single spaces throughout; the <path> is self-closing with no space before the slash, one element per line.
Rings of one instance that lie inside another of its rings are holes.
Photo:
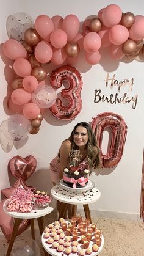
<path fill-rule="evenodd" d="M 88 181 L 88 186 L 84 188 L 69 188 L 63 184 L 63 181 L 60 180 L 56 186 L 51 189 L 51 194 L 54 199 L 62 202 L 61 211 L 59 214 L 59 218 L 65 215 L 65 211 L 67 210 L 67 205 L 73 205 L 71 216 L 76 214 L 75 205 L 83 205 L 85 217 L 91 220 L 89 204 L 94 203 L 99 200 L 101 193 L 95 187 L 95 183 L 93 181 Z M 92 221 L 91 221 L 92 223 Z"/>

